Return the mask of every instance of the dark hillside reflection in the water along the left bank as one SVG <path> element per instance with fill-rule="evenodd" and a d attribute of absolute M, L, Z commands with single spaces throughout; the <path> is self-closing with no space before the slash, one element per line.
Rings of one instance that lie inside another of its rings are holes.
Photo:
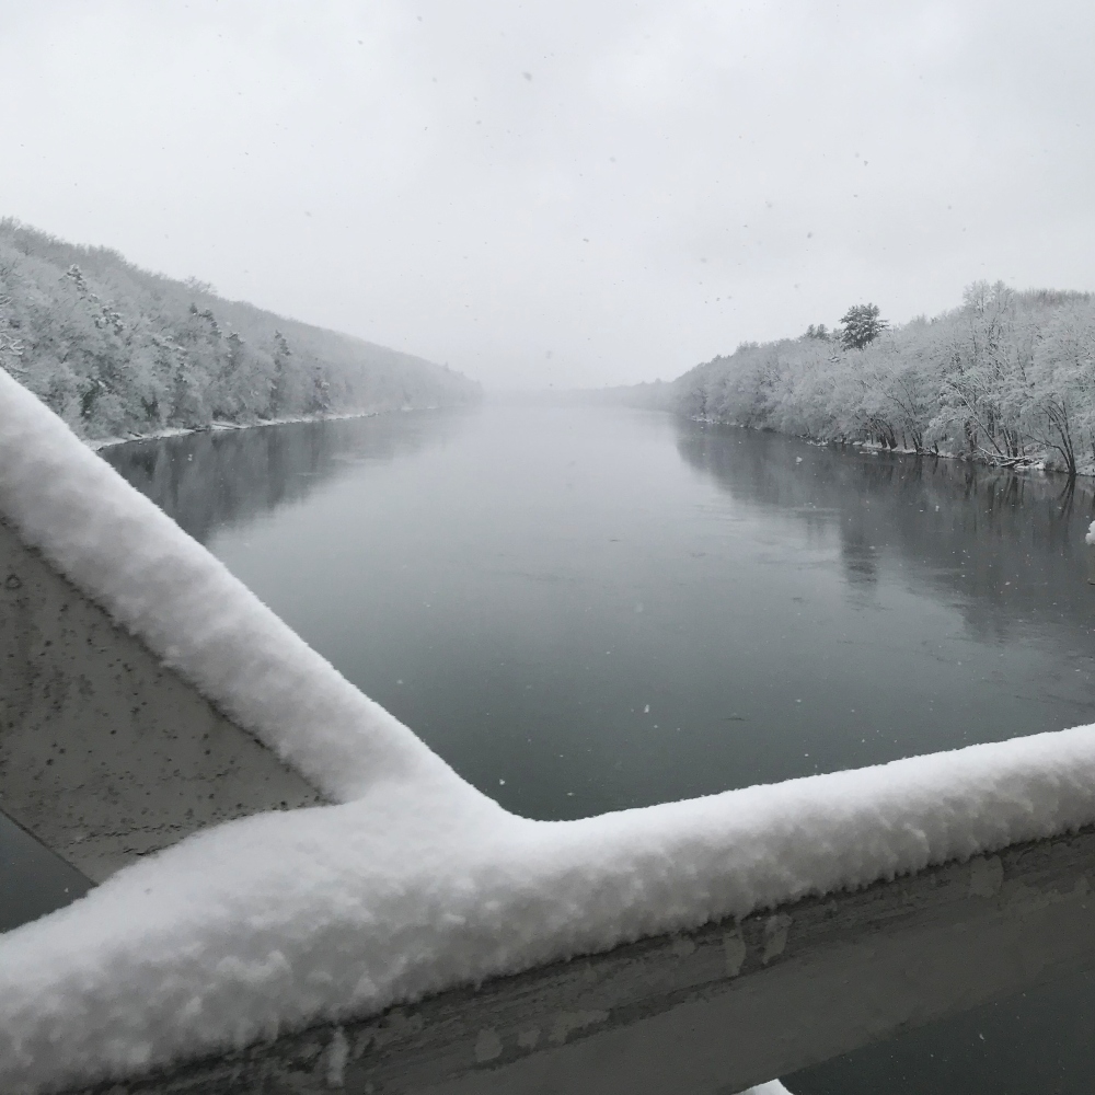
<path fill-rule="evenodd" d="M 102 456 L 192 537 L 307 497 L 354 464 L 451 436 L 470 412 L 424 411 L 135 441 Z"/>

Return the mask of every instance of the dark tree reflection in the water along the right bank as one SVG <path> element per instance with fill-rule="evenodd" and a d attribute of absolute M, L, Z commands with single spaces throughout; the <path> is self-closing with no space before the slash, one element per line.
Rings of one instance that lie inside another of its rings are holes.
<path fill-rule="evenodd" d="M 1026 623 L 1091 623 L 1085 482 L 687 420 L 678 429 L 681 457 L 734 497 L 835 532 L 853 584 L 871 584 L 895 558 L 960 607 L 981 637 Z"/>

